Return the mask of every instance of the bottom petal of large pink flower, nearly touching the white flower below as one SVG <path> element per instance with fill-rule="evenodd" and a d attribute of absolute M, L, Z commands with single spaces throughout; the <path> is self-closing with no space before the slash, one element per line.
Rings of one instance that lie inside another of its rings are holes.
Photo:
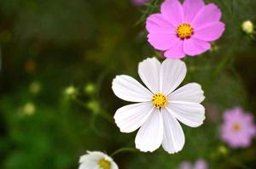
<path fill-rule="evenodd" d="M 172 48 L 169 48 L 164 55 L 166 58 L 174 59 L 181 59 L 185 57 L 183 52 L 183 41 L 177 38 Z"/>

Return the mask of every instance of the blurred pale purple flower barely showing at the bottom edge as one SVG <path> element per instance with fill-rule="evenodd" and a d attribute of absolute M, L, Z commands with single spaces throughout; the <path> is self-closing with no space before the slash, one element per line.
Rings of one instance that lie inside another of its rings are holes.
<path fill-rule="evenodd" d="M 199 159 L 195 161 L 195 165 L 193 166 L 189 161 L 183 161 L 178 169 L 208 169 L 207 161 L 203 159 Z"/>

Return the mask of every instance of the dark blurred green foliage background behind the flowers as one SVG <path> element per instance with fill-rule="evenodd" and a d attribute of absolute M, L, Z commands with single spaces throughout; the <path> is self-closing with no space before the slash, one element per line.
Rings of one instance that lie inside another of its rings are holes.
<path fill-rule="evenodd" d="M 210 168 L 255 168 L 256 144 L 230 149 L 219 138 L 222 113 L 236 105 L 256 112 L 256 42 L 241 31 L 256 23 L 255 0 L 217 3 L 226 24 L 211 51 L 183 59 L 185 82 L 201 83 L 207 120 L 183 126 L 186 144 L 175 155 L 124 152 L 121 169 L 176 168 L 205 159 Z M 113 114 L 115 75 L 137 76 L 138 62 L 161 58 L 147 42 L 148 14 L 161 1 L 136 7 L 129 0 L 0 0 L 0 168 L 78 168 L 86 150 L 109 154 L 135 147 L 136 132 L 119 132 Z M 254 114 L 255 115 L 255 114 Z"/>

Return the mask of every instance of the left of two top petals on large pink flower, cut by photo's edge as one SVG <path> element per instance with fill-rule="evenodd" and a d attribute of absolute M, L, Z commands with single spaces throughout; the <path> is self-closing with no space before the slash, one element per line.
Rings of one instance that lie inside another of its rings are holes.
<path fill-rule="evenodd" d="M 161 14 L 172 23 L 173 26 L 177 27 L 183 23 L 184 12 L 183 6 L 178 0 L 166 0 L 161 4 L 160 8 Z"/>

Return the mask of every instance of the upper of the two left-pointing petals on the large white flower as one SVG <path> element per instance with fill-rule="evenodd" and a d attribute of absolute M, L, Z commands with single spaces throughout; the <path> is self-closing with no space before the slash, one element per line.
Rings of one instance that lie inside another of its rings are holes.
<path fill-rule="evenodd" d="M 112 82 L 112 89 L 119 99 L 125 101 L 147 102 L 152 99 L 152 93 L 131 76 L 116 76 Z"/>

